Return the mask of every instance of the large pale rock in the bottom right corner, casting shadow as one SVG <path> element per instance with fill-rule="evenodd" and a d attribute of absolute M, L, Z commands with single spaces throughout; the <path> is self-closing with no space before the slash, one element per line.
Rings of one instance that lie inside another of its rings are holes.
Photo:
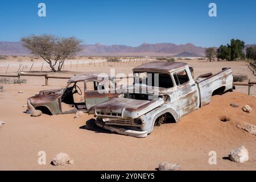
<path fill-rule="evenodd" d="M 229 159 L 236 163 L 243 163 L 249 160 L 248 151 L 245 146 L 236 148 L 229 153 Z"/>

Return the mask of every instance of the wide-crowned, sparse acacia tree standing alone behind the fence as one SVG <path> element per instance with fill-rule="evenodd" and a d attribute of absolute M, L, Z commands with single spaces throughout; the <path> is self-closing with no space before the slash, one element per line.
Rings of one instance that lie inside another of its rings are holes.
<path fill-rule="evenodd" d="M 49 64 L 53 72 L 61 71 L 64 61 L 81 51 L 81 40 L 58 38 L 55 35 L 30 35 L 21 39 L 23 46 L 34 55 L 42 57 Z"/>

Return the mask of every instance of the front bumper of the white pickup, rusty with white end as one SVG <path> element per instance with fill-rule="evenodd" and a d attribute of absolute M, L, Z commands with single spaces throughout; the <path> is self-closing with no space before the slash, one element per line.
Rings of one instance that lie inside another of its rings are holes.
<path fill-rule="evenodd" d="M 130 136 L 130 137 L 137 137 L 137 138 L 147 137 L 147 131 L 127 130 L 127 129 L 123 129 L 121 127 L 109 126 L 109 125 L 105 125 L 104 122 L 101 122 L 101 121 L 98 121 L 98 120 L 96 120 L 96 125 L 98 127 L 102 127 L 103 129 L 109 130 L 113 133 L 127 135 L 127 136 Z"/>

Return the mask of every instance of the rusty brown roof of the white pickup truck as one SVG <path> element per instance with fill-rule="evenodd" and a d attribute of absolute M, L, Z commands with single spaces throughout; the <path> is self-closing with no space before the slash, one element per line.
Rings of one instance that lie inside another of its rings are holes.
<path fill-rule="evenodd" d="M 167 62 L 167 61 L 153 61 L 150 63 L 139 65 L 134 68 L 133 71 L 164 71 L 164 72 L 172 72 L 176 69 L 183 68 L 187 63 L 181 62 Z"/>

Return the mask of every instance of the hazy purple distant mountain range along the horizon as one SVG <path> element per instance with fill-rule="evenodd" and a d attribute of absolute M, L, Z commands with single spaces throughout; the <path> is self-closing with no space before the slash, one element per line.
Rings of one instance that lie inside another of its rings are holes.
<path fill-rule="evenodd" d="M 0 42 L 0 55 L 30 55 L 21 42 Z M 176 45 L 173 43 L 147 44 L 138 47 L 112 45 L 104 46 L 99 43 L 82 45 L 80 56 L 174 56 L 201 57 L 205 56 L 205 48 L 191 43 Z"/>

